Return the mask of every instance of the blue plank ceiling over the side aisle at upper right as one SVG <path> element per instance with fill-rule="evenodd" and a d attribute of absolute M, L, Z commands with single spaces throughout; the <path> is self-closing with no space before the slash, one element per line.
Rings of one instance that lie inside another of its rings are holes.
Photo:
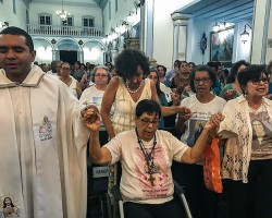
<path fill-rule="evenodd" d="M 252 20 L 255 0 L 198 0 L 177 10 L 194 20 L 238 23 Z"/>

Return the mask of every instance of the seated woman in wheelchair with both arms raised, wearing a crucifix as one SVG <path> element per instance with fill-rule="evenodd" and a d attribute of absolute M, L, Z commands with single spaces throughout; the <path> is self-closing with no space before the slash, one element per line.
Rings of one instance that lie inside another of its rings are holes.
<path fill-rule="evenodd" d="M 86 114 L 94 116 L 96 111 Z M 190 110 L 185 110 L 190 116 Z M 207 122 L 194 147 L 178 141 L 166 131 L 158 130 L 160 106 L 153 100 L 141 100 L 136 107 L 136 129 L 118 134 L 103 147 L 99 143 L 100 117 L 90 129 L 90 159 L 94 164 L 110 165 L 121 161 L 121 194 L 127 218 L 181 218 L 182 205 L 173 198 L 172 160 L 194 164 L 201 157 L 209 136 L 223 119 Z"/>

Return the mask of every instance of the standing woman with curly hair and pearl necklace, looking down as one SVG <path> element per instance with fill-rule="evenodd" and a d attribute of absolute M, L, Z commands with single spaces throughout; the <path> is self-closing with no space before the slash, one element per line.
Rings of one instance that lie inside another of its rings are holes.
<path fill-rule="evenodd" d="M 148 58 L 140 51 L 125 49 L 115 60 L 118 76 L 112 77 L 102 99 L 101 117 L 110 138 L 135 128 L 135 108 L 143 99 L 159 102 L 154 83 L 145 78 L 150 70 Z M 111 107 L 114 113 L 110 119 Z M 185 107 L 162 107 L 162 116 L 188 111 Z"/>

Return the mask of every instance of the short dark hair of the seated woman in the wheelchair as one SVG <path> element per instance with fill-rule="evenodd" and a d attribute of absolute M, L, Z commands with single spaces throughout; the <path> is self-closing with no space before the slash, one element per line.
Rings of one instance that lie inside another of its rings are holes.
<path fill-rule="evenodd" d="M 140 100 L 138 105 L 136 106 L 137 118 L 139 118 L 144 112 L 147 112 L 148 114 L 152 114 L 153 112 L 156 112 L 156 116 L 159 116 L 159 118 L 161 118 L 160 105 L 151 99 Z"/>

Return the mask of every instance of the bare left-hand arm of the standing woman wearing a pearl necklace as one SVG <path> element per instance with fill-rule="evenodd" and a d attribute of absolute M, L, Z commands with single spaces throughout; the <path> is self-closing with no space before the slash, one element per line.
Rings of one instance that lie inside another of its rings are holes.
<path fill-rule="evenodd" d="M 101 105 L 101 117 L 102 117 L 104 128 L 110 138 L 113 138 L 115 136 L 115 133 L 111 123 L 110 111 L 115 100 L 118 87 L 119 87 L 119 77 L 118 76 L 112 77 L 103 94 L 103 99 L 102 99 L 102 105 Z"/>

